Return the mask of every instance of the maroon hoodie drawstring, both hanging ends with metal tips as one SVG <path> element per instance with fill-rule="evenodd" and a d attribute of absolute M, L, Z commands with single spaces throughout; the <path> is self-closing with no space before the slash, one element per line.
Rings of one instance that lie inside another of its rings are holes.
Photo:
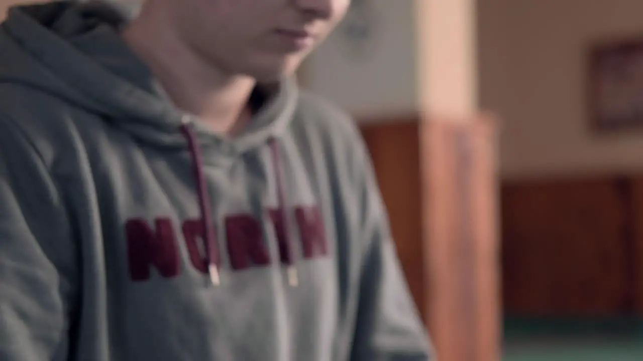
<path fill-rule="evenodd" d="M 201 154 L 201 148 L 197 144 L 197 137 L 194 134 L 194 131 L 190 127 L 190 118 L 187 116 L 183 118 L 181 122 L 181 132 L 185 136 L 186 141 L 188 142 L 188 148 L 190 150 L 190 155 L 192 156 L 192 166 L 194 168 L 194 179 L 197 186 L 197 195 L 199 197 L 199 208 L 201 209 L 201 222 L 203 227 L 203 237 L 206 245 L 206 253 L 208 255 L 208 274 L 210 274 L 210 281 L 212 285 L 218 286 L 221 283 L 219 277 L 219 253 L 217 251 L 217 234 L 214 231 L 214 225 L 212 223 L 212 209 L 210 207 L 210 195 L 208 194 L 208 186 L 206 184 L 205 176 L 203 175 L 203 155 Z M 297 269 L 294 266 L 294 257 L 292 242 L 289 232 L 289 223 L 286 212 L 286 199 L 285 199 L 285 189 L 284 181 L 281 175 L 281 162 L 279 156 L 279 143 L 276 139 L 271 139 L 269 142 L 269 147 L 272 155 L 273 170 L 275 172 L 275 182 L 276 182 L 276 191 L 277 191 L 277 202 L 278 202 L 278 212 L 280 217 L 280 223 L 283 230 L 283 233 L 277 234 L 277 242 L 279 245 L 279 251 L 282 255 L 282 261 L 287 265 L 287 279 L 288 283 L 291 286 L 297 286 L 299 284 Z"/>

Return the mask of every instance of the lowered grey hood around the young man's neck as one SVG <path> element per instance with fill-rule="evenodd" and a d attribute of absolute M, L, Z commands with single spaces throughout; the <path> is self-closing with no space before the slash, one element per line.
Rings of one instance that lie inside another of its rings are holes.
<path fill-rule="evenodd" d="M 149 68 L 123 42 L 118 31 L 128 16 L 119 9 L 100 1 L 10 8 L 0 29 L 0 83 L 47 92 L 142 141 L 185 147 L 181 119 L 190 114 L 172 105 Z M 291 121 L 298 91 L 291 79 L 277 89 L 234 140 L 195 122 L 199 145 L 226 146 L 238 154 L 278 137 Z"/>

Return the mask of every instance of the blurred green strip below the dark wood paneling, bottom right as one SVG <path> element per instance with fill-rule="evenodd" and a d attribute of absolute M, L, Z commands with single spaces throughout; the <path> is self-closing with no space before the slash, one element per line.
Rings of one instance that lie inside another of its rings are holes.
<path fill-rule="evenodd" d="M 505 321 L 503 361 L 643 361 L 643 322 L 517 319 Z"/>

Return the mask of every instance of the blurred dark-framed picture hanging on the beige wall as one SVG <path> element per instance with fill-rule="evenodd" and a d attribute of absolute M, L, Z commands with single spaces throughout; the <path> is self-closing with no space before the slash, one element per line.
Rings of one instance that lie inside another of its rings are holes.
<path fill-rule="evenodd" d="M 642 130 L 643 36 L 593 46 L 589 90 L 594 130 Z"/>

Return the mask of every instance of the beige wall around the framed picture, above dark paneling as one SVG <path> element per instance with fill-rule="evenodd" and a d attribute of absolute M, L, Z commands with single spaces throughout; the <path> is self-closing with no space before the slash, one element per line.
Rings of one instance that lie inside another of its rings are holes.
<path fill-rule="evenodd" d="M 503 175 L 643 169 L 643 134 L 592 134 L 584 98 L 587 47 L 597 39 L 643 37 L 643 1 L 479 3 L 480 100 L 503 118 Z"/>

